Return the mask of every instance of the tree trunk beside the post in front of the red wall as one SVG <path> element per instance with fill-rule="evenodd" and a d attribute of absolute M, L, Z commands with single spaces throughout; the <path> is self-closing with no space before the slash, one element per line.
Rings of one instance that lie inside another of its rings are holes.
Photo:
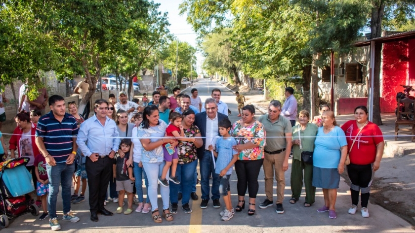
<path fill-rule="evenodd" d="M 372 19 L 371 19 L 371 38 L 382 35 L 382 20 L 385 10 L 383 0 L 373 1 Z M 382 125 L 380 117 L 380 65 L 381 65 L 382 44 L 376 44 L 374 47 L 374 70 L 373 70 L 373 123 Z"/>

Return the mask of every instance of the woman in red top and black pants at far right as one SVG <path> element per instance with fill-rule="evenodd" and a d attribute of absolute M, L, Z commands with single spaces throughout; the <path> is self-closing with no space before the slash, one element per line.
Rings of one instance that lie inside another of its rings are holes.
<path fill-rule="evenodd" d="M 368 202 L 374 172 L 379 169 L 385 143 L 383 134 L 376 124 L 368 121 L 368 108 L 355 108 L 355 120 L 341 126 L 346 134 L 350 164 L 347 174 L 350 179 L 352 206 L 349 214 L 355 214 L 361 193 L 362 217 L 369 217 Z M 362 137 L 362 139 L 361 139 Z"/>

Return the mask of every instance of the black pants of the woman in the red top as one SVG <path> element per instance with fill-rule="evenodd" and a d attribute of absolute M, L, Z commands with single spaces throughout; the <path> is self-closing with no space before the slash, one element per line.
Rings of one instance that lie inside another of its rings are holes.
<path fill-rule="evenodd" d="M 359 193 L 361 193 L 361 205 L 362 207 L 368 207 L 370 197 L 370 184 L 372 183 L 372 165 L 347 165 L 347 174 L 351 182 L 350 193 L 352 198 L 352 204 L 359 203 Z"/>

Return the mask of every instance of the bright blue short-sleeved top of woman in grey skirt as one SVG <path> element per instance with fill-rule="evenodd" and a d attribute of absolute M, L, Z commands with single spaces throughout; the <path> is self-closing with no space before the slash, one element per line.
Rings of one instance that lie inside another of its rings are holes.
<path fill-rule="evenodd" d="M 329 133 L 320 127 L 314 141 L 313 165 L 321 168 L 337 168 L 340 162 L 340 148 L 347 145 L 343 130 L 335 126 Z"/>

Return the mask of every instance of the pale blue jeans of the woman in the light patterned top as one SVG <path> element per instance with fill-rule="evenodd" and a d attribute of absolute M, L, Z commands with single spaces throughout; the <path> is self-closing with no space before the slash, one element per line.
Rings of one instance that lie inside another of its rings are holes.
<path fill-rule="evenodd" d="M 162 176 L 163 167 L 166 165 L 166 162 L 162 163 L 143 163 L 143 168 L 146 171 L 148 178 L 148 198 L 150 199 L 151 211 L 154 211 L 159 208 L 157 203 L 157 187 L 159 186 L 159 177 Z M 169 173 L 167 170 L 167 173 Z M 167 182 L 169 182 L 167 180 Z M 168 199 L 170 194 L 170 188 L 160 185 L 160 194 L 163 200 L 163 209 L 168 209 Z"/>

